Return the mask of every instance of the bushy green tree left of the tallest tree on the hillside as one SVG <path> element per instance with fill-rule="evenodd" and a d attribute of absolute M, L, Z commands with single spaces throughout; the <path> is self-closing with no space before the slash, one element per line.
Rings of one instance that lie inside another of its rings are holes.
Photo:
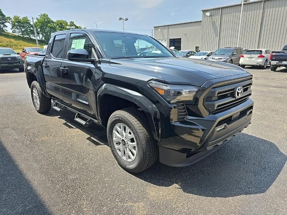
<path fill-rule="evenodd" d="M 11 19 L 12 33 L 20 34 L 22 37 L 31 37 L 34 35 L 33 26 L 27 16 L 20 18 L 14 15 Z"/>

